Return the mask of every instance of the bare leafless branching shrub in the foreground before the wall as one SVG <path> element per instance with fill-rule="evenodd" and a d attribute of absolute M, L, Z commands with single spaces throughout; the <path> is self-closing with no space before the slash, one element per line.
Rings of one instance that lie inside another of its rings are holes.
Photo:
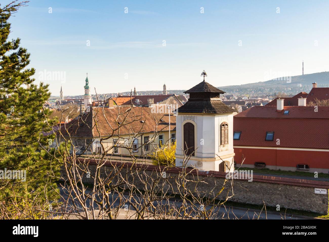
<path fill-rule="evenodd" d="M 134 150 L 145 146 L 138 144 L 136 147 L 133 140 L 139 137 L 146 124 L 143 123 L 139 129 L 129 132 L 128 142 L 127 136 L 122 135 L 126 132 L 121 131 L 136 122 L 141 123 L 145 115 L 142 110 L 134 107 L 132 101 L 129 107 L 114 107 L 113 113 L 117 114 L 116 117 L 109 117 L 106 109 L 108 108 L 99 105 L 90 107 L 90 112 L 85 112 L 75 119 L 75 123 L 83 126 L 84 130 L 95 131 L 91 139 L 85 140 L 85 152 L 78 152 L 79 148 L 74 142 L 77 130 L 71 126 L 71 122 L 52 126 L 51 135 L 55 136 L 53 144 L 49 147 L 42 146 L 42 149 L 52 157 L 54 165 L 61 166 L 60 172 L 54 169 L 48 173 L 49 177 L 57 177 L 60 181 L 59 189 L 56 190 L 58 200 L 47 201 L 48 207 L 32 204 L 32 209 L 35 213 L 41 214 L 41 218 L 240 218 L 235 216 L 232 208 L 225 206 L 225 202 L 236 195 L 233 179 L 225 178 L 218 182 L 212 173 L 187 168 L 191 155 L 187 155 L 186 150 L 182 168 L 175 168 L 170 164 L 151 165 L 147 162 L 150 153 L 144 152 L 139 156 L 134 154 Z M 66 119 L 73 112 L 62 108 L 61 110 L 61 119 Z M 89 122 L 90 120 L 93 122 Z M 153 136 L 146 145 L 159 148 L 155 147 L 157 145 L 154 141 L 164 127 L 160 128 L 162 118 L 159 120 L 159 116 L 154 116 L 153 120 Z M 104 126 L 107 127 L 106 137 L 101 132 Z M 113 137 L 118 142 L 109 146 L 107 141 Z M 99 144 L 96 147 L 97 152 L 94 150 L 96 141 Z M 164 149 L 166 145 L 160 148 Z M 124 148 L 127 151 L 125 161 L 122 157 L 120 160 L 114 156 L 113 150 L 117 148 Z M 8 209 L 1 206 L 0 209 L 3 214 L 8 212 Z M 257 217 L 259 216 L 253 216 Z"/>

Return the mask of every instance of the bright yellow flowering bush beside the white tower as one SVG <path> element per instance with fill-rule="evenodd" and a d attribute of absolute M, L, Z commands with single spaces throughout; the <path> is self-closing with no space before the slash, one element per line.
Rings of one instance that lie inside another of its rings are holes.
<path fill-rule="evenodd" d="M 161 146 L 155 151 L 153 151 L 153 164 L 160 166 L 175 166 L 175 151 L 176 151 L 176 142 L 171 143 L 169 146 Z"/>

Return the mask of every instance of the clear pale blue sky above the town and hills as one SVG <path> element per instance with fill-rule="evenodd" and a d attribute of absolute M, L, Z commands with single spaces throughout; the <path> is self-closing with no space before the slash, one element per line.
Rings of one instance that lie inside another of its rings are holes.
<path fill-rule="evenodd" d="M 9 1 L 2 3 L 2 6 Z M 187 90 L 329 70 L 329 1 L 32 0 L 9 21 L 52 95 Z M 278 75 L 278 76 L 276 76 Z M 270 78 L 268 78 L 270 76 Z M 169 92 L 170 93 L 170 92 Z"/>

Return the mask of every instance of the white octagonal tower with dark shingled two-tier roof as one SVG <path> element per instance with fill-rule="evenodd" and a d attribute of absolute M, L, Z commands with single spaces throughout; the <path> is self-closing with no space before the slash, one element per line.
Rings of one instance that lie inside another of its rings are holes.
<path fill-rule="evenodd" d="M 202 72 L 201 76 L 207 76 Z M 219 98 L 224 94 L 203 82 L 184 92 L 189 100 L 176 110 L 176 166 L 204 171 L 234 171 L 233 116 Z"/>

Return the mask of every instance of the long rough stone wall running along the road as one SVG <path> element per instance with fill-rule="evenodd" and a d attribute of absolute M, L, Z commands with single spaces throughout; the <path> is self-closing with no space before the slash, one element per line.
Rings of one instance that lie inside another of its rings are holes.
<path fill-rule="evenodd" d="M 87 161 L 81 161 L 86 164 Z M 89 171 L 91 175 L 95 172 L 95 160 L 88 160 Z M 102 173 L 109 174 L 109 171 L 123 166 L 121 170 L 121 175 L 124 177 L 127 175 L 132 181 L 130 174 L 138 173 L 138 176 L 134 177 L 134 185 L 139 189 L 145 189 L 145 185 L 142 182 L 143 179 L 151 176 L 153 178 L 162 176 L 162 172 L 165 171 L 165 182 L 161 183 L 169 192 L 176 193 L 177 186 L 175 185 L 175 180 L 177 176 L 182 173 L 182 168 L 173 167 L 163 170 L 158 166 L 153 165 L 139 165 L 132 163 L 121 163 L 121 162 L 111 162 L 103 166 Z M 133 171 L 133 172 L 131 172 Z M 186 169 L 187 172 L 191 169 Z M 195 187 L 195 183 L 187 183 L 192 191 L 209 191 L 215 187 L 215 189 L 207 196 L 211 197 L 212 194 L 217 194 L 225 180 L 225 173 L 222 172 L 203 172 L 203 171 L 192 171 L 188 178 L 193 180 L 198 176 L 199 178 L 204 178 L 205 182 L 198 183 Z M 84 177 L 84 182 L 90 182 L 92 178 Z M 136 177 L 139 177 L 138 179 Z M 173 185 L 173 186 L 170 186 Z M 302 179 L 291 179 L 283 177 L 274 176 L 261 176 L 253 175 L 253 180 L 249 182 L 246 179 L 233 179 L 233 191 L 234 196 L 229 199 L 229 201 L 247 203 L 247 204 L 257 204 L 263 205 L 263 201 L 266 206 L 277 207 L 280 205 L 280 210 L 284 211 L 283 208 L 297 209 L 303 211 L 316 212 L 320 214 L 328 214 L 328 188 L 329 182 L 325 181 L 314 181 L 314 180 L 302 180 Z M 195 189 L 196 188 L 196 189 Z M 227 183 L 226 188 L 218 197 L 219 199 L 224 199 L 227 194 L 227 189 L 231 188 L 230 182 Z M 315 188 L 321 188 L 327 190 L 327 194 L 315 194 Z M 172 189 L 174 191 L 172 191 Z M 229 191 L 232 194 L 232 191 Z"/>

